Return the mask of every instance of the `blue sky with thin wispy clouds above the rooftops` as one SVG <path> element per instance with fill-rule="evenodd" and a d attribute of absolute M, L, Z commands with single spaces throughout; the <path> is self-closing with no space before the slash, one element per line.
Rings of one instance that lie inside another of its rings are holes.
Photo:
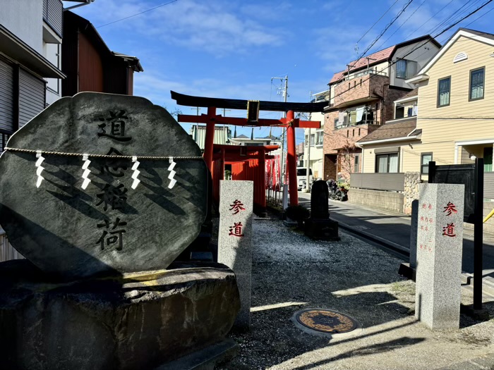
<path fill-rule="evenodd" d="M 310 93 L 325 90 L 333 73 L 360 56 L 409 1 L 95 0 L 73 11 L 97 27 L 110 49 L 140 58 L 144 72 L 134 75 L 135 95 L 169 111 L 195 114 L 191 107 L 176 106 L 170 90 L 282 101 L 277 94 L 282 82 L 271 78 L 288 75 L 288 100 L 309 101 Z M 486 1 L 412 0 L 367 54 L 421 35 L 435 36 Z M 494 33 L 494 11 L 488 13 L 493 9 L 494 1 L 438 41 L 443 44 L 459 27 Z M 262 118 L 280 116 L 260 113 Z M 183 127 L 188 130 L 190 124 Z M 299 143 L 303 130 L 296 131 Z M 251 128 L 237 128 L 241 133 L 250 137 Z M 273 135 L 280 133 L 273 129 Z M 269 128 L 255 128 L 255 137 L 268 134 Z"/>

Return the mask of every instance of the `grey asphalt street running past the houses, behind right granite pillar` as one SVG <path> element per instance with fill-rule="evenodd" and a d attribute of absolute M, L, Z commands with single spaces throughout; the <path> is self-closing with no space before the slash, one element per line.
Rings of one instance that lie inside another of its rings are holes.
<path fill-rule="evenodd" d="M 299 192 L 299 203 L 310 208 L 311 195 Z M 359 204 L 329 200 L 330 218 L 350 229 L 361 230 L 373 235 L 376 242 L 380 239 L 399 245 L 409 250 L 410 221 L 409 216 L 394 214 L 379 209 L 370 209 Z M 463 232 L 462 270 L 474 272 L 474 230 L 464 228 Z M 483 276 L 494 278 L 494 235 L 483 234 Z"/>

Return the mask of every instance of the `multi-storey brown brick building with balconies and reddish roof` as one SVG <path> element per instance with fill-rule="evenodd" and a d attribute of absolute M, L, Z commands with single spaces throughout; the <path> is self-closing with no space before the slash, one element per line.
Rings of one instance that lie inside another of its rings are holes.
<path fill-rule="evenodd" d="M 356 142 L 394 118 L 394 100 L 414 87 L 406 84 L 440 44 L 429 35 L 411 39 L 352 61 L 330 80 L 325 109 L 324 178 L 361 172 Z"/>

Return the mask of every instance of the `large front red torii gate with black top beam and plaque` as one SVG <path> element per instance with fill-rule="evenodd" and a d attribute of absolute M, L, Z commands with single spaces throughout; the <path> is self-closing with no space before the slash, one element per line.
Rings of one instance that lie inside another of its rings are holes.
<path fill-rule="evenodd" d="M 192 97 L 171 91 L 171 99 L 183 106 L 207 107 L 207 114 L 192 116 L 179 114 L 178 121 L 183 123 L 205 123 L 206 137 L 204 160 L 207 168 L 212 169 L 212 149 L 215 139 L 215 124 L 238 126 L 277 126 L 287 128 L 287 162 L 290 205 L 299 204 L 298 184 L 296 182 L 295 128 L 320 128 L 320 121 L 300 121 L 294 112 L 322 112 L 327 106 L 326 101 L 317 103 L 291 103 L 282 101 L 258 101 L 241 99 L 220 99 L 208 97 Z M 242 109 L 247 111 L 247 118 L 223 117 L 216 114 L 216 109 Z M 259 118 L 259 111 L 287 112 L 287 118 Z"/>

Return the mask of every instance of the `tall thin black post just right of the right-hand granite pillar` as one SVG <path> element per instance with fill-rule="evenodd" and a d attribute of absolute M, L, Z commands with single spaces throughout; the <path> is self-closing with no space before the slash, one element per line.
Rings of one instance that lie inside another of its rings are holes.
<path fill-rule="evenodd" d="M 474 309 L 482 309 L 483 276 L 483 158 L 475 160 Z"/>

